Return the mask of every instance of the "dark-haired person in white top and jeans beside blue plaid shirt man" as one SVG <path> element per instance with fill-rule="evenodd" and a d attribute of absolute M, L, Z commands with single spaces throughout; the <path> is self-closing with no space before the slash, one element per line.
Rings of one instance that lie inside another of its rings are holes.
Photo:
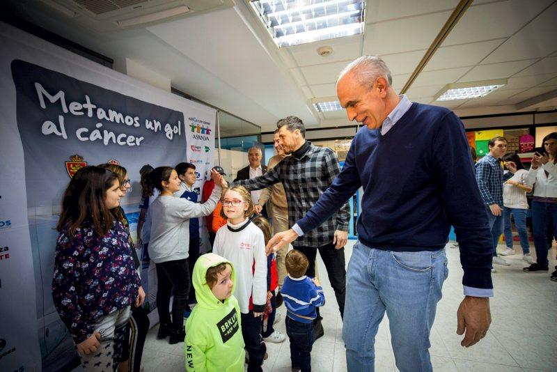
<path fill-rule="evenodd" d="M 503 164 L 505 168 L 512 173 L 512 177 L 503 184 L 503 220 L 505 244 L 507 249 L 501 253 L 501 256 L 510 256 L 515 254 L 512 248 L 512 228 L 510 217 L 515 219 L 515 226 L 520 238 L 520 246 L 522 248 L 522 259 L 527 263 L 534 263 L 530 255 L 530 244 L 528 243 L 528 231 L 526 231 L 526 213 L 528 212 L 528 201 L 526 201 L 526 192 L 531 192 L 532 187 L 526 185 L 526 176 L 528 171 L 524 169 L 524 165 L 520 161 L 520 157 L 515 153 L 508 153 L 503 156 Z"/>

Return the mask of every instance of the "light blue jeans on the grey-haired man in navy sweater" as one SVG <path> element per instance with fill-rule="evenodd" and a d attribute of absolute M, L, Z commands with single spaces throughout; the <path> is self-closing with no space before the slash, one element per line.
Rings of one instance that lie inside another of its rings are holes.
<path fill-rule="evenodd" d="M 398 369 L 432 371 L 430 330 L 447 275 L 445 249 L 383 251 L 356 242 L 346 276 L 348 371 L 374 371 L 375 334 L 385 312 Z"/>

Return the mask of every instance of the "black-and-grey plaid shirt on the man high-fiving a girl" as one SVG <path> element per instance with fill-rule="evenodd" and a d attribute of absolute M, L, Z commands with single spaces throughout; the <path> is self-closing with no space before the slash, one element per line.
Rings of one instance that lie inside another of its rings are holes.
<path fill-rule="evenodd" d="M 288 223 L 293 226 L 313 207 L 323 192 L 340 173 L 336 153 L 330 148 L 310 146 L 299 159 L 286 157 L 262 176 L 239 180 L 232 185 L 242 185 L 249 191 L 263 189 L 281 182 L 288 201 Z M 348 231 L 350 206 L 345 203 L 331 218 L 312 231 L 297 238 L 295 247 L 322 247 L 333 241 L 336 230 Z"/>

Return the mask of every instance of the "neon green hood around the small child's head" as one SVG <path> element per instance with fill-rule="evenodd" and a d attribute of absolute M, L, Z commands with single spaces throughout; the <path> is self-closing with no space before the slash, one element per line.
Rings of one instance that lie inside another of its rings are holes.
<path fill-rule="evenodd" d="M 218 254 L 202 254 L 196 261 L 192 279 L 192 283 L 194 284 L 194 288 L 196 290 L 197 304 L 201 305 L 201 307 L 214 309 L 221 304 L 221 301 L 217 299 L 217 297 L 215 297 L 212 293 L 212 290 L 207 284 L 207 280 L 205 279 L 207 270 L 209 270 L 209 268 L 214 268 L 221 263 L 228 263 L 228 265 L 230 265 L 230 268 L 232 268 L 232 273 L 230 274 L 230 279 L 232 279 L 233 281 L 232 292 L 234 292 L 234 289 L 236 288 L 236 271 L 234 269 L 234 265 L 226 258 L 223 258 Z M 225 300 L 225 302 L 226 301 L 228 301 L 228 298 Z"/>

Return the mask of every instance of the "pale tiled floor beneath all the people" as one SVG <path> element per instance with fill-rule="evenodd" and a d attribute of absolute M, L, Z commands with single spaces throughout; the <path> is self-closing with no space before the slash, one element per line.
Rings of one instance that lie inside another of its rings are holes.
<path fill-rule="evenodd" d="M 352 245 L 346 248 L 346 262 Z M 430 353 L 435 371 L 557 371 L 557 283 L 549 273 L 526 273 L 521 254 L 506 258 L 509 267 L 496 266 L 493 274 L 495 297 L 491 301 L 492 325 L 485 339 L 471 348 L 462 348 L 462 336 L 456 334 L 456 311 L 462 300 L 462 269 L 458 249 L 447 246 L 449 277 L 443 287 L 443 299 L 437 306 Z M 500 250 L 504 247 L 500 246 Z M 519 251 L 519 247 L 515 246 Z M 556 249 L 550 252 L 550 272 L 556 265 Z M 319 260 L 327 304 L 322 308 L 325 335 L 315 341 L 311 353 L 314 371 L 346 371 L 342 326 L 334 293 L 325 279 L 326 270 Z M 285 332 L 284 307 L 281 323 L 275 328 Z M 375 371 L 398 371 L 391 347 L 389 320 L 385 317 L 375 343 Z M 143 352 L 147 371 L 183 371 L 183 343 L 168 345 L 155 338 L 157 327 L 150 330 Z M 268 343 L 269 359 L 265 371 L 290 372 L 288 338 L 284 343 Z"/>

